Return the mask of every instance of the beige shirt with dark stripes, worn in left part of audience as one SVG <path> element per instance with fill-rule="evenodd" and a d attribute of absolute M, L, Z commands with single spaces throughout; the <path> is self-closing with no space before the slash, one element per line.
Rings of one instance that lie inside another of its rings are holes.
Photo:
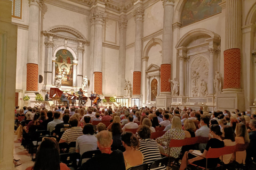
<path fill-rule="evenodd" d="M 63 134 L 61 139 L 66 140 L 66 143 L 76 142 L 76 139 L 83 135 L 83 129 L 81 126 L 72 127 L 67 129 Z M 76 151 L 75 147 L 69 148 L 69 152 Z"/>

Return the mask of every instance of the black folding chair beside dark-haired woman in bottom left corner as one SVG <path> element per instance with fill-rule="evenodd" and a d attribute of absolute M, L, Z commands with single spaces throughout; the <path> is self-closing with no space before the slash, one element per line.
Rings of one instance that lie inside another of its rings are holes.
<path fill-rule="evenodd" d="M 66 164 L 68 167 L 78 168 L 77 162 L 80 162 L 81 155 L 77 152 L 60 154 L 60 162 Z"/>

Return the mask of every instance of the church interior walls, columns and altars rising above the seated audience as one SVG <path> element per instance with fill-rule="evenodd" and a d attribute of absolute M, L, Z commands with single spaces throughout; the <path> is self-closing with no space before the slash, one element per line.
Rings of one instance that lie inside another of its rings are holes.
<path fill-rule="evenodd" d="M 14 106 L 54 109 L 63 92 L 256 112 L 256 0 L 1 0 L 0 52 L 0 169 L 14 166 Z"/>

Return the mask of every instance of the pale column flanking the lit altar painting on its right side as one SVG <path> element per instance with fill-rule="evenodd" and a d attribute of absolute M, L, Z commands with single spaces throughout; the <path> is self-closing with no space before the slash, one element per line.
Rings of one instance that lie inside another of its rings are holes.
<path fill-rule="evenodd" d="M 79 46 L 77 47 L 77 56 L 78 56 L 78 64 L 77 64 L 77 87 L 82 87 L 82 79 L 83 79 L 83 43 L 79 42 Z"/>

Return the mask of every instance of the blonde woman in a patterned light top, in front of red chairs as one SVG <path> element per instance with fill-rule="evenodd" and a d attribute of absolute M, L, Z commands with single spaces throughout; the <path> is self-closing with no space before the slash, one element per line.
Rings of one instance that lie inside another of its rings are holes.
<path fill-rule="evenodd" d="M 178 116 L 173 116 L 171 129 L 166 131 L 162 137 L 156 139 L 157 143 L 162 143 L 165 145 L 164 147 L 159 145 L 160 152 L 166 155 L 170 154 L 171 157 L 178 158 L 181 147 L 169 148 L 169 143 L 172 139 L 185 139 L 185 132 L 182 130 L 180 117 Z"/>

